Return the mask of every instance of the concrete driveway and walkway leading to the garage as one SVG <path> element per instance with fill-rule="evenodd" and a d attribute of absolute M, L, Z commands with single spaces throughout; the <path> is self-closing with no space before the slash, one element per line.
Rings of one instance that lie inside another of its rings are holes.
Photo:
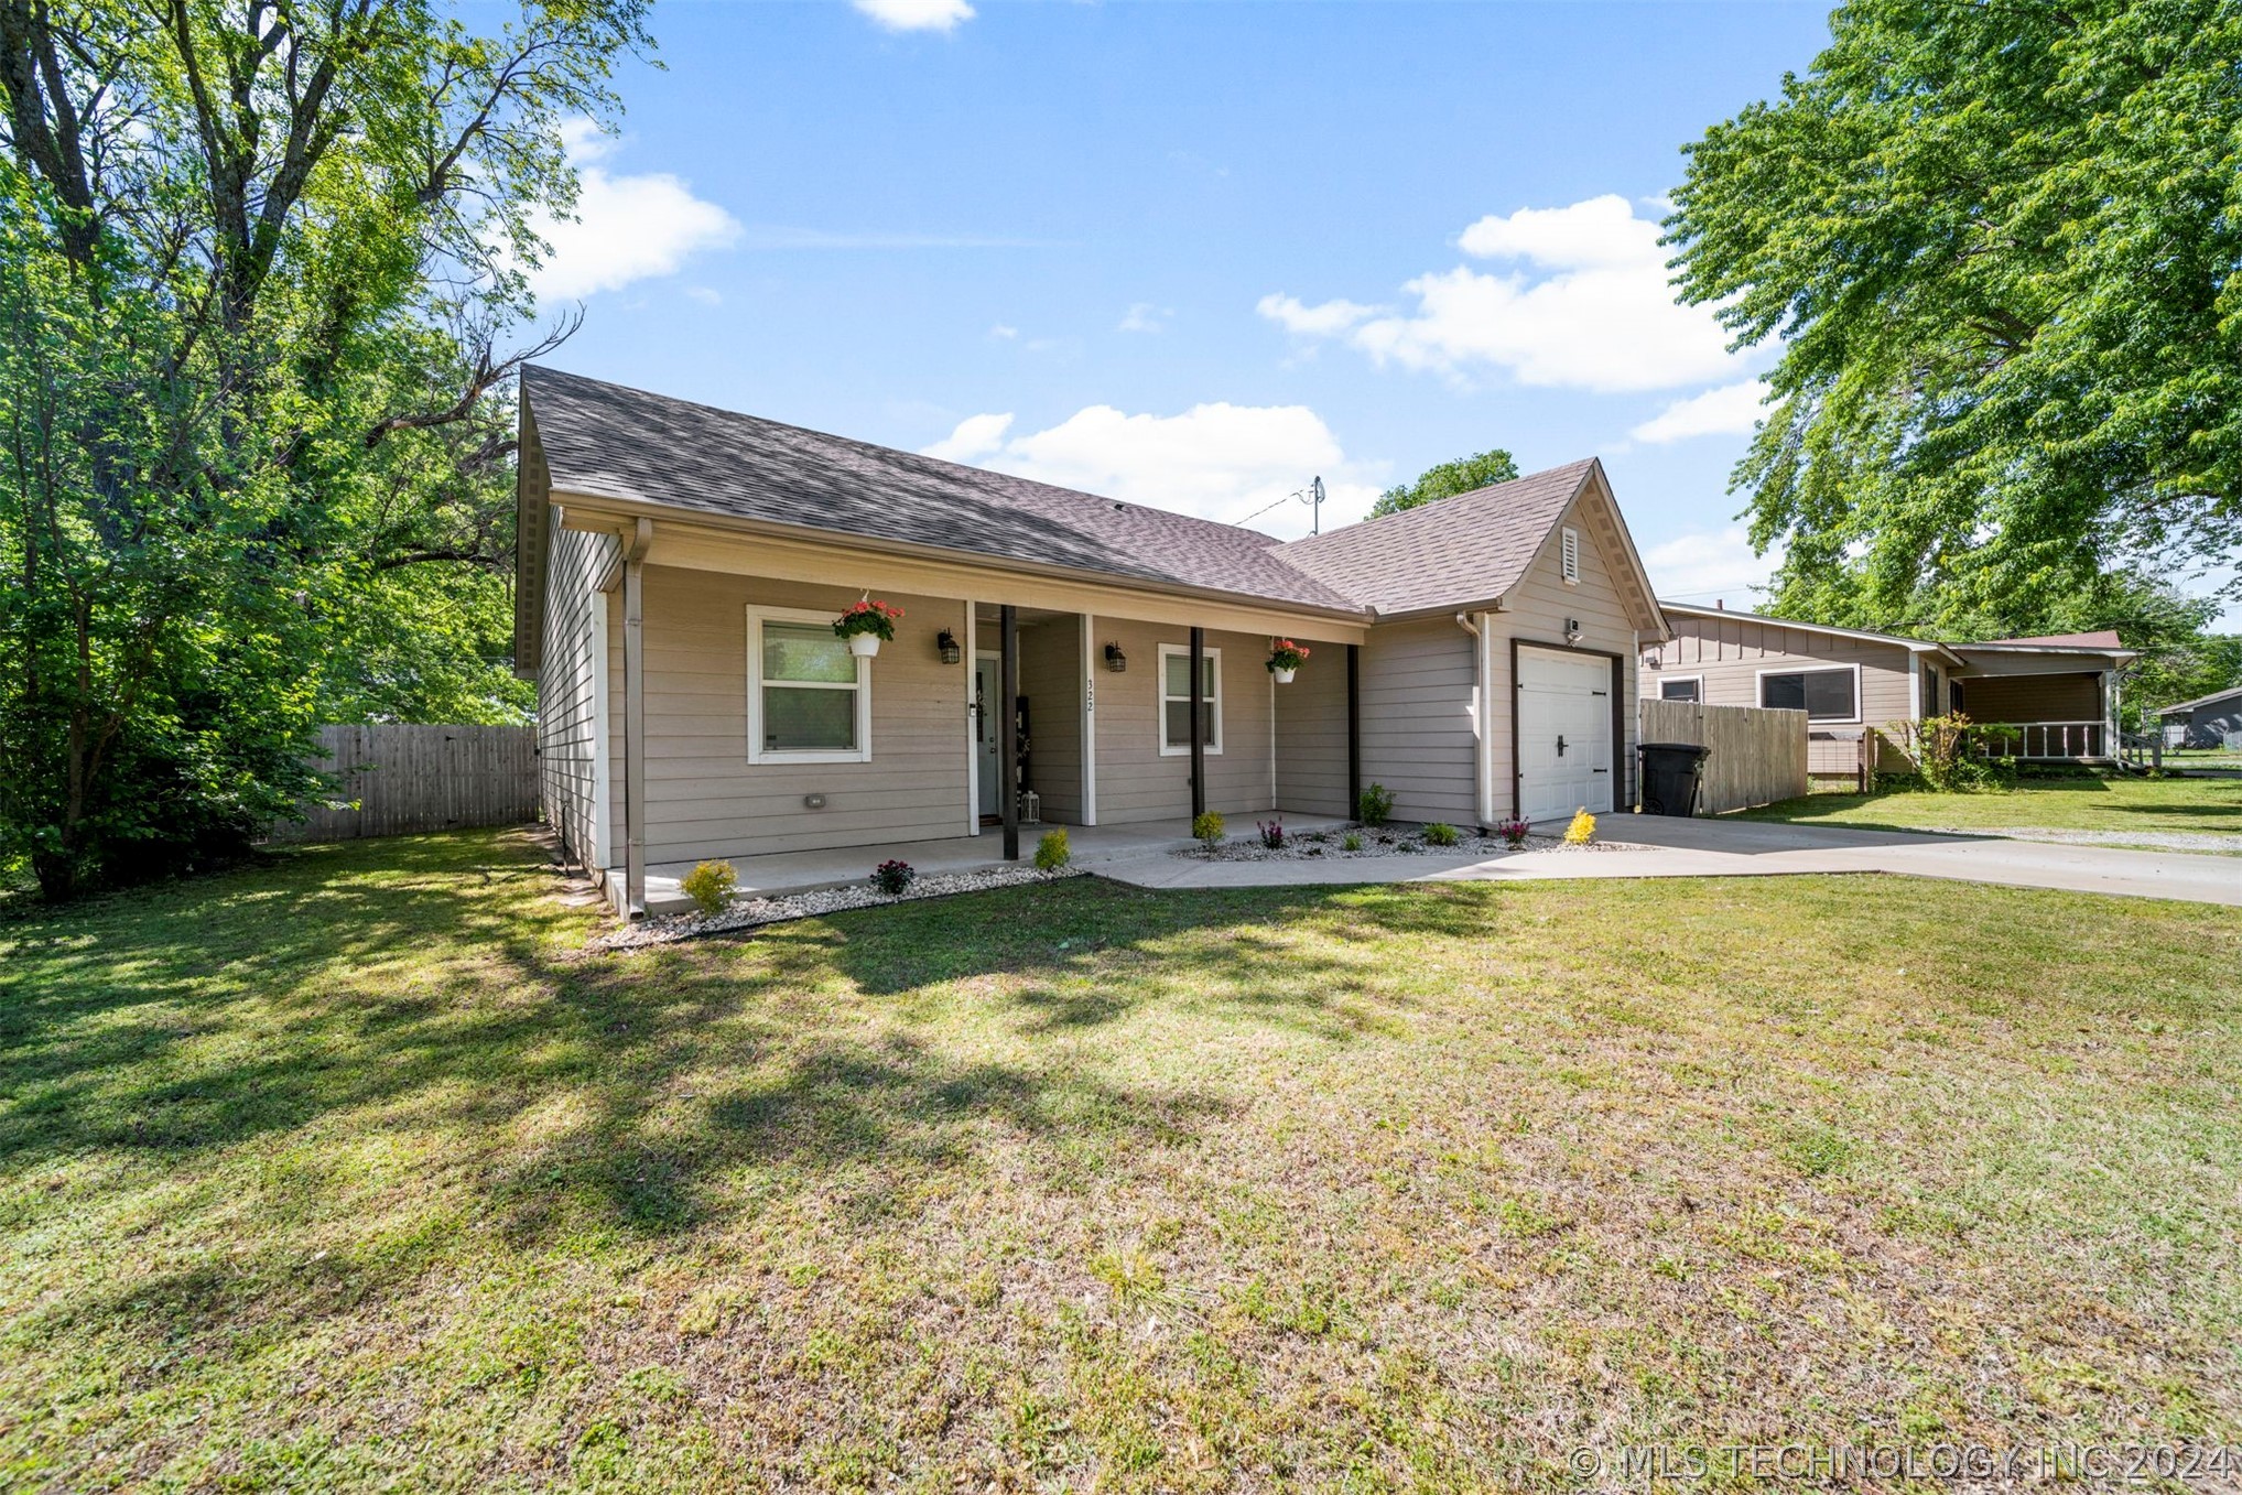
<path fill-rule="evenodd" d="M 2119 852 L 2002 841 L 1998 836 L 1912 836 L 1758 820 L 1670 820 L 1666 816 L 1603 816 L 1599 832 L 1605 841 L 1628 845 L 1603 852 L 1551 849 L 1495 858 L 1424 854 L 1341 863 L 1197 861 L 1161 854 L 1112 861 L 1099 872 L 1139 888 L 1897 872 L 1962 883 L 2060 888 L 2242 908 L 2242 856 Z"/>

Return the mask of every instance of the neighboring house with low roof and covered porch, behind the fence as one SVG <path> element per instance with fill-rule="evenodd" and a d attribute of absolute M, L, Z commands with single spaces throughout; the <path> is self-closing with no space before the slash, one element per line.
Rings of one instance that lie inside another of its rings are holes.
<path fill-rule="evenodd" d="M 2123 670 L 2116 632 L 1939 643 L 1661 601 L 1673 637 L 1643 654 L 1648 699 L 1807 713 L 1816 773 L 1906 769 L 1910 726 L 1953 711 L 2011 733 L 2033 762 L 2112 764 Z"/>

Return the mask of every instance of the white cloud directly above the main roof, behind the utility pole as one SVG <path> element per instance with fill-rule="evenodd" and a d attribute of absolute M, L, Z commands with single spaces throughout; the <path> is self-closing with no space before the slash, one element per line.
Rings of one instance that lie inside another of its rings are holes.
<path fill-rule="evenodd" d="M 1182 415 L 1087 406 L 1047 430 L 1011 435 L 1011 415 L 966 417 L 926 455 L 1231 524 L 1251 518 L 1276 536 L 1307 533 L 1307 504 L 1287 498 L 1316 475 L 1325 529 L 1363 518 L 1379 495 L 1377 473 L 1350 462 L 1307 406 L 1206 403 Z"/>

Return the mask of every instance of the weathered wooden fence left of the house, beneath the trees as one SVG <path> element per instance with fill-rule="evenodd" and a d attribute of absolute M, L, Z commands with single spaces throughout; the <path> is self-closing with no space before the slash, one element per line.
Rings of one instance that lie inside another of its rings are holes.
<path fill-rule="evenodd" d="M 336 773 L 303 825 L 274 841 L 352 841 L 464 825 L 518 825 L 538 814 L 536 728 L 321 726 L 318 767 Z"/>

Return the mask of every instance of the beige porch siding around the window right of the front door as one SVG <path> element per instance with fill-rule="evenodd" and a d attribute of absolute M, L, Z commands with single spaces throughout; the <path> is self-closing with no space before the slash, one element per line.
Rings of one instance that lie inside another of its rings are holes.
<path fill-rule="evenodd" d="M 1096 654 L 1108 643 L 1128 670 L 1099 675 L 1099 825 L 1191 816 L 1191 753 L 1159 751 L 1159 646 L 1191 643 L 1188 628 L 1096 619 Z M 1222 650 L 1222 753 L 1206 755 L 1206 807 L 1226 816 L 1269 814 L 1269 637 L 1206 630 Z"/>

